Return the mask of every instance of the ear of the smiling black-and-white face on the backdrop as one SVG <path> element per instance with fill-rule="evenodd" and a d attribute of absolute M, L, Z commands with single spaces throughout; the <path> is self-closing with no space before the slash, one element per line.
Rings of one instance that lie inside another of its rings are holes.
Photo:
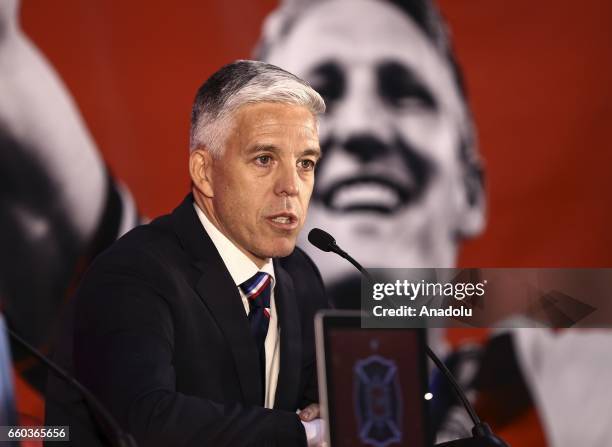
<path fill-rule="evenodd" d="M 463 148 L 463 151 L 465 148 Z M 465 152 L 464 152 L 465 153 Z M 466 157 L 467 158 L 467 157 Z M 481 160 L 463 161 L 461 186 L 457 188 L 457 232 L 460 238 L 477 236 L 486 224 L 484 168 Z"/>

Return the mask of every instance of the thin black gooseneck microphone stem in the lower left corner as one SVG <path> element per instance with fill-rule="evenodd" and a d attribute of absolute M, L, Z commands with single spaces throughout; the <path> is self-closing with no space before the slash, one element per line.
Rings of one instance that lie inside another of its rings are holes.
<path fill-rule="evenodd" d="M 129 433 L 123 432 L 115 418 L 108 412 L 102 403 L 89 391 L 83 384 L 68 374 L 63 368 L 56 365 L 36 348 L 30 345 L 27 341 L 17 335 L 8 326 L 6 328 L 10 337 L 21 345 L 26 351 L 30 352 L 34 357 L 40 360 L 47 368 L 49 368 L 58 377 L 64 380 L 72 388 L 76 389 L 84 398 L 89 406 L 89 409 L 96 416 L 94 419 L 100 425 L 102 432 L 111 441 L 113 447 L 138 447 L 136 441 Z"/>

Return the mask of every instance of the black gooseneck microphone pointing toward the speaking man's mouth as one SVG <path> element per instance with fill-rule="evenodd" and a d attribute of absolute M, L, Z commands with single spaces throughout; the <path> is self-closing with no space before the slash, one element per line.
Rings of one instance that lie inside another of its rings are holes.
<path fill-rule="evenodd" d="M 348 253 L 338 247 L 336 240 L 328 232 L 319 228 L 313 228 L 310 230 L 310 233 L 308 233 L 308 241 L 319 250 L 326 252 L 331 251 L 340 255 L 353 264 L 357 270 L 359 270 L 368 279 L 368 281 L 372 283 L 374 282 L 370 272 L 362 267 L 361 264 L 353 259 Z M 476 411 L 474 410 L 474 407 L 461 389 L 461 386 L 459 386 L 459 383 L 457 383 L 444 362 L 438 358 L 438 356 L 431 350 L 431 348 L 429 348 L 429 346 L 426 346 L 425 350 L 429 358 L 436 364 L 438 369 L 442 372 L 442 375 L 444 375 L 446 380 L 448 380 L 448 382 L 451 384 L 452 389 L 474 423 L 474 427 L 472 427 L 472 438 L 456 439 L 454 441 L 437 444 L 435 447 L 509 447 L 508 444 L 506 444 L 501 438 L 495 436 L 486 422 L 482 422 L 480 420 L 476 414 Z"/>

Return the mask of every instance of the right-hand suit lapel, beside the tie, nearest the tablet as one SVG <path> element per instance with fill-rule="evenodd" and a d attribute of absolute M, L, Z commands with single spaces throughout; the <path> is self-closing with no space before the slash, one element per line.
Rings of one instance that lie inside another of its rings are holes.
<path fill-rule="evenodd" d="M 280 263 L 274 261 L 277 284 L 274 300 L 280 324 L 280 370 L 274 408 L 294 411 L 302 370 L 301 329 L 293 280 Z"/>

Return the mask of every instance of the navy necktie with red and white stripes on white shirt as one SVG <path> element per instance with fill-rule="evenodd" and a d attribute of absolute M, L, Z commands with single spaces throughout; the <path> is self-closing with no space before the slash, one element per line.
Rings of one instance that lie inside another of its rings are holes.
<path fill-rule="evenodd" d="M 240 289 L 249 301 L 249 325 L 259 352 L 261 377 L 266 376 L 265 341 L 270 323 L 270 293 L 272 277 L 268 273 L 257 272 L 250 279 L 240 284 Z M 263 387 L 265 390 L 265 386 Z"/>

